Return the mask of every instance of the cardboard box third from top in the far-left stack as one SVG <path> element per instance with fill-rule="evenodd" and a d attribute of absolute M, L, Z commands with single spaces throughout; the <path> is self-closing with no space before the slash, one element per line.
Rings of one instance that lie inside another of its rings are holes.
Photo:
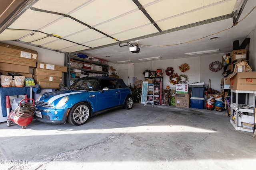
<path fill-rule="evenodd" d="M 29 66 L 22 66 L 22 65 L 9 64 L 9 63 L 0 63 L 0 71 L 29 73 Z"/>

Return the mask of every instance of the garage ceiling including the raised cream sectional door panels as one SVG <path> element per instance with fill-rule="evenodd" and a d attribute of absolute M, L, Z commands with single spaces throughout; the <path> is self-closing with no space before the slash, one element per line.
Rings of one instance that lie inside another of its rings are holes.
<path fill-rule="evenodd" d="M 0 41 L 111 63 L 211 49 L 228 53 L 233 41 L 242 43 L 256 27 L 255 6 L 255 0 L 26 0 L 1 23 Z M 136 44 L 140 53 L 131 53 Z"/>

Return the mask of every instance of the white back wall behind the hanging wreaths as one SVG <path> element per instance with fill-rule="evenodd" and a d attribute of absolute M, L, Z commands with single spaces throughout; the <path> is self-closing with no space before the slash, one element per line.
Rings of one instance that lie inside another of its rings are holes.
<path fill-rule="evenodd" d="M 225 53 L 226 54 L 226 53 Z M 193 82 L 204 82 L 205 87 L 208 86 L 209 79 L 212 80 L 211 88 L 214 90 L 220 91 L 220 81 L 222 76 L 223 69 L 218 72 L 212 72 L 209 70 L 209 64 L 212 61 L 221 61 L 224 54 L 218 55 L 205 55 L 200 57 L 188 57 L 182 59 L 171 59 L 171 60 L 162 60 L 162 61 L 148 61 L 143 63 L 134 63 L 134 77 L 137 77 L 138 80 L 144 80 L 144 75 L 142 74 L 144 70 L 156 70 L 162 68 L 163 72 L 163 88 L 166 88 L 168 84 L 170 88 L 175 88 L 176 85 L 173 85 L 169 82 L 170 78 L 165 74 L 167 67 L 172 67 L 175 73 L 184 74 L 188 76 L 188 83 Z M 181 72 L 178 66 L 181 64 L 187 63 L 190 66 L 190 70 L 186 72 Z"/>

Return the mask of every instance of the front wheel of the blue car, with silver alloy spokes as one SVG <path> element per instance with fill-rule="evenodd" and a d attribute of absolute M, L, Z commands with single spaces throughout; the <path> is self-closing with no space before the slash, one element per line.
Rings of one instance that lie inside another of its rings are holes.
<path fill-rule="evenodd" d="M 68 123 L 71 125 L 80 126 L 88 121 L 91 116 L 90 106 L 84 102 L 75 104 L 69 114 L 68 114 Z"/>

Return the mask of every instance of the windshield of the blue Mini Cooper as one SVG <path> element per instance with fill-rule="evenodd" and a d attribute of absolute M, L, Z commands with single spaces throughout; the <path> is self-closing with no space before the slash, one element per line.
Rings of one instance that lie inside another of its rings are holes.
<path fill-rule="evenodd" d="M 98 79 L 80 79 L 76 81 L 70 89 L 78 90 L 93 90 L 97 84 Z"/>

